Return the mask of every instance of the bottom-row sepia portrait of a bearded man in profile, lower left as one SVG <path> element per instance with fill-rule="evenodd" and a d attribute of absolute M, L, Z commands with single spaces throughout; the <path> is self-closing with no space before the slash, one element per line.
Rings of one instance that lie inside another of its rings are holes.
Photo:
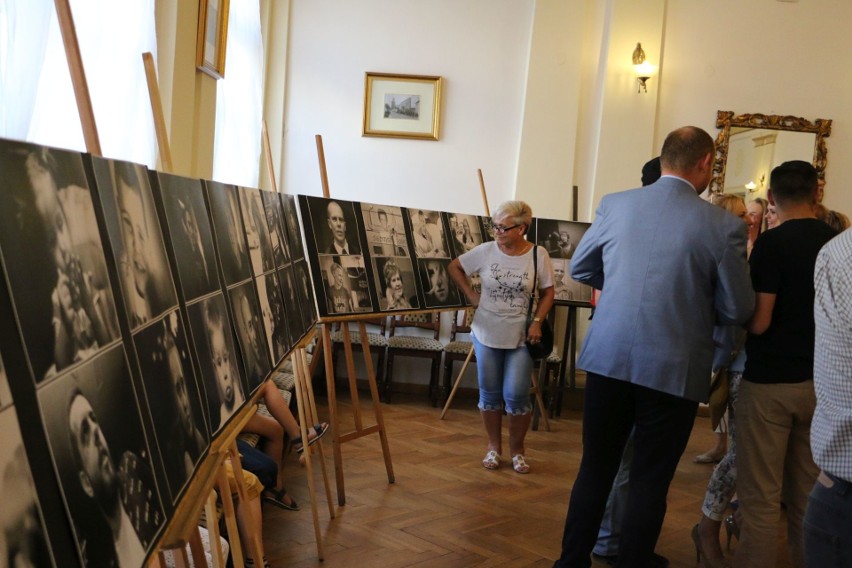
<path fill-rule="evenodd" d="M 142 566 L 165 524 L 124 349 L 102 351 L 38 392 L 86 566 Z"/>

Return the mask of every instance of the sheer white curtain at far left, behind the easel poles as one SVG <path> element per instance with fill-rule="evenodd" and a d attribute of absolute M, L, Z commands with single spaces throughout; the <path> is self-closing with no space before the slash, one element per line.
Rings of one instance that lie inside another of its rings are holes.
<path fill-rule="evenodd" d="M 153 167 L 154 0 L 71 0 L 71 12 L 104 156 Z M 0 135 L 86 150 L 52 0 L 0 0 L 0 96 Z"/>

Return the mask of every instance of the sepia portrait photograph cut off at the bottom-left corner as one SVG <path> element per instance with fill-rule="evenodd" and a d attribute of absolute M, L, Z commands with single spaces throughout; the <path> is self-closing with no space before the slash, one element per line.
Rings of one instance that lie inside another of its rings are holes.
<path fill-rule="evenodd" d="M 14 408 L 0 412 L 0 565 L 55 566 Z"/>

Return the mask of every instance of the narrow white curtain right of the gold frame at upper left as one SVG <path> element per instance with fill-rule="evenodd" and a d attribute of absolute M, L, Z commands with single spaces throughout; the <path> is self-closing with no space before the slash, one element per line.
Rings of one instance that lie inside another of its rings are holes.
<path fill-rule="evenodd" d="M 257 187 L 263 129 L 259 0 L 230 2 L 225 78 L 217 89 L 213 179 Z"/>

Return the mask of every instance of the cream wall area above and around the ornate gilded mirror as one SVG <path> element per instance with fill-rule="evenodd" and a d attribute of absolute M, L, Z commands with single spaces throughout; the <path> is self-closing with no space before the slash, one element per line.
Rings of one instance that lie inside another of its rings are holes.
<path fill-rule="evenodd" d="M 825 204 L 852 213 L 849 22 L 845 0 L 668 0 L 657 145 L 684 124 L 715 136 L 717 110 L 832 119 Z"/>

